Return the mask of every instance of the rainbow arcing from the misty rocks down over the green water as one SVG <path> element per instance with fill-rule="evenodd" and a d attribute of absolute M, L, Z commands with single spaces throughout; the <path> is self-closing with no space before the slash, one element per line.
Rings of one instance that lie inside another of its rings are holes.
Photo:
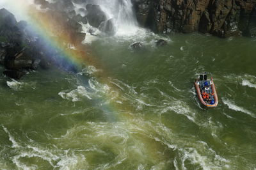
<path fill-rule="evenodd" d="M 102 63 L 100 63 L 97 58 L 93 57 L 93 52 L 88 50 L 86 45 L 74 40 L 75 33 L 68 29 L 66 21 L 62 21 L 60 15 L 52 15 L 52 13 L 37 10 L 36 6 L 29 4 L 27 0 L 19 1 L 19 3 L 21 6 L 19 10 L 22 10 L 22 15 L 28 16 L 27 21 L 31 31 L 38 35 L 39 38 L 43 40 L 43 43 L 47 44 L 49 51 L 58 50 L 60 53 L 58 58 L 60 60 L 65 59 L 70 65 L 75 66 L 77 70 L 81 70 L 85 66 L 94 66 L 96 69 L 102 70 L 102 72 L 95 72 L 93 75 L 101 84 L 108 86 L 108 91 L 115 91 L 115 94 L 106 93 L 104 96 L 106 100 L 110 101 L 108 105 L 104 106 L 104 109 L 107 109 L 108 112 L 112 112 L 113 115 L 111 115 L 111 117 L 116 118 L 116 112 L 118 112 L 120 116 L 119 113 L 122 111 L 122 116 L 132 118 L 130 114 L 130 111 L 133 110 L 132 106 L 122 99 L 122 95 L 118 92 L 119 89 L 109 82 L 108 70 L 104 69 Z M 16 5 L 17 4 L 15 4 L 15 6 Z M 74 48 L 70 49 L 68 45 L 72 45 Z M 121 101 L 122 105 L 118 104 L 116 101 Z"/>

